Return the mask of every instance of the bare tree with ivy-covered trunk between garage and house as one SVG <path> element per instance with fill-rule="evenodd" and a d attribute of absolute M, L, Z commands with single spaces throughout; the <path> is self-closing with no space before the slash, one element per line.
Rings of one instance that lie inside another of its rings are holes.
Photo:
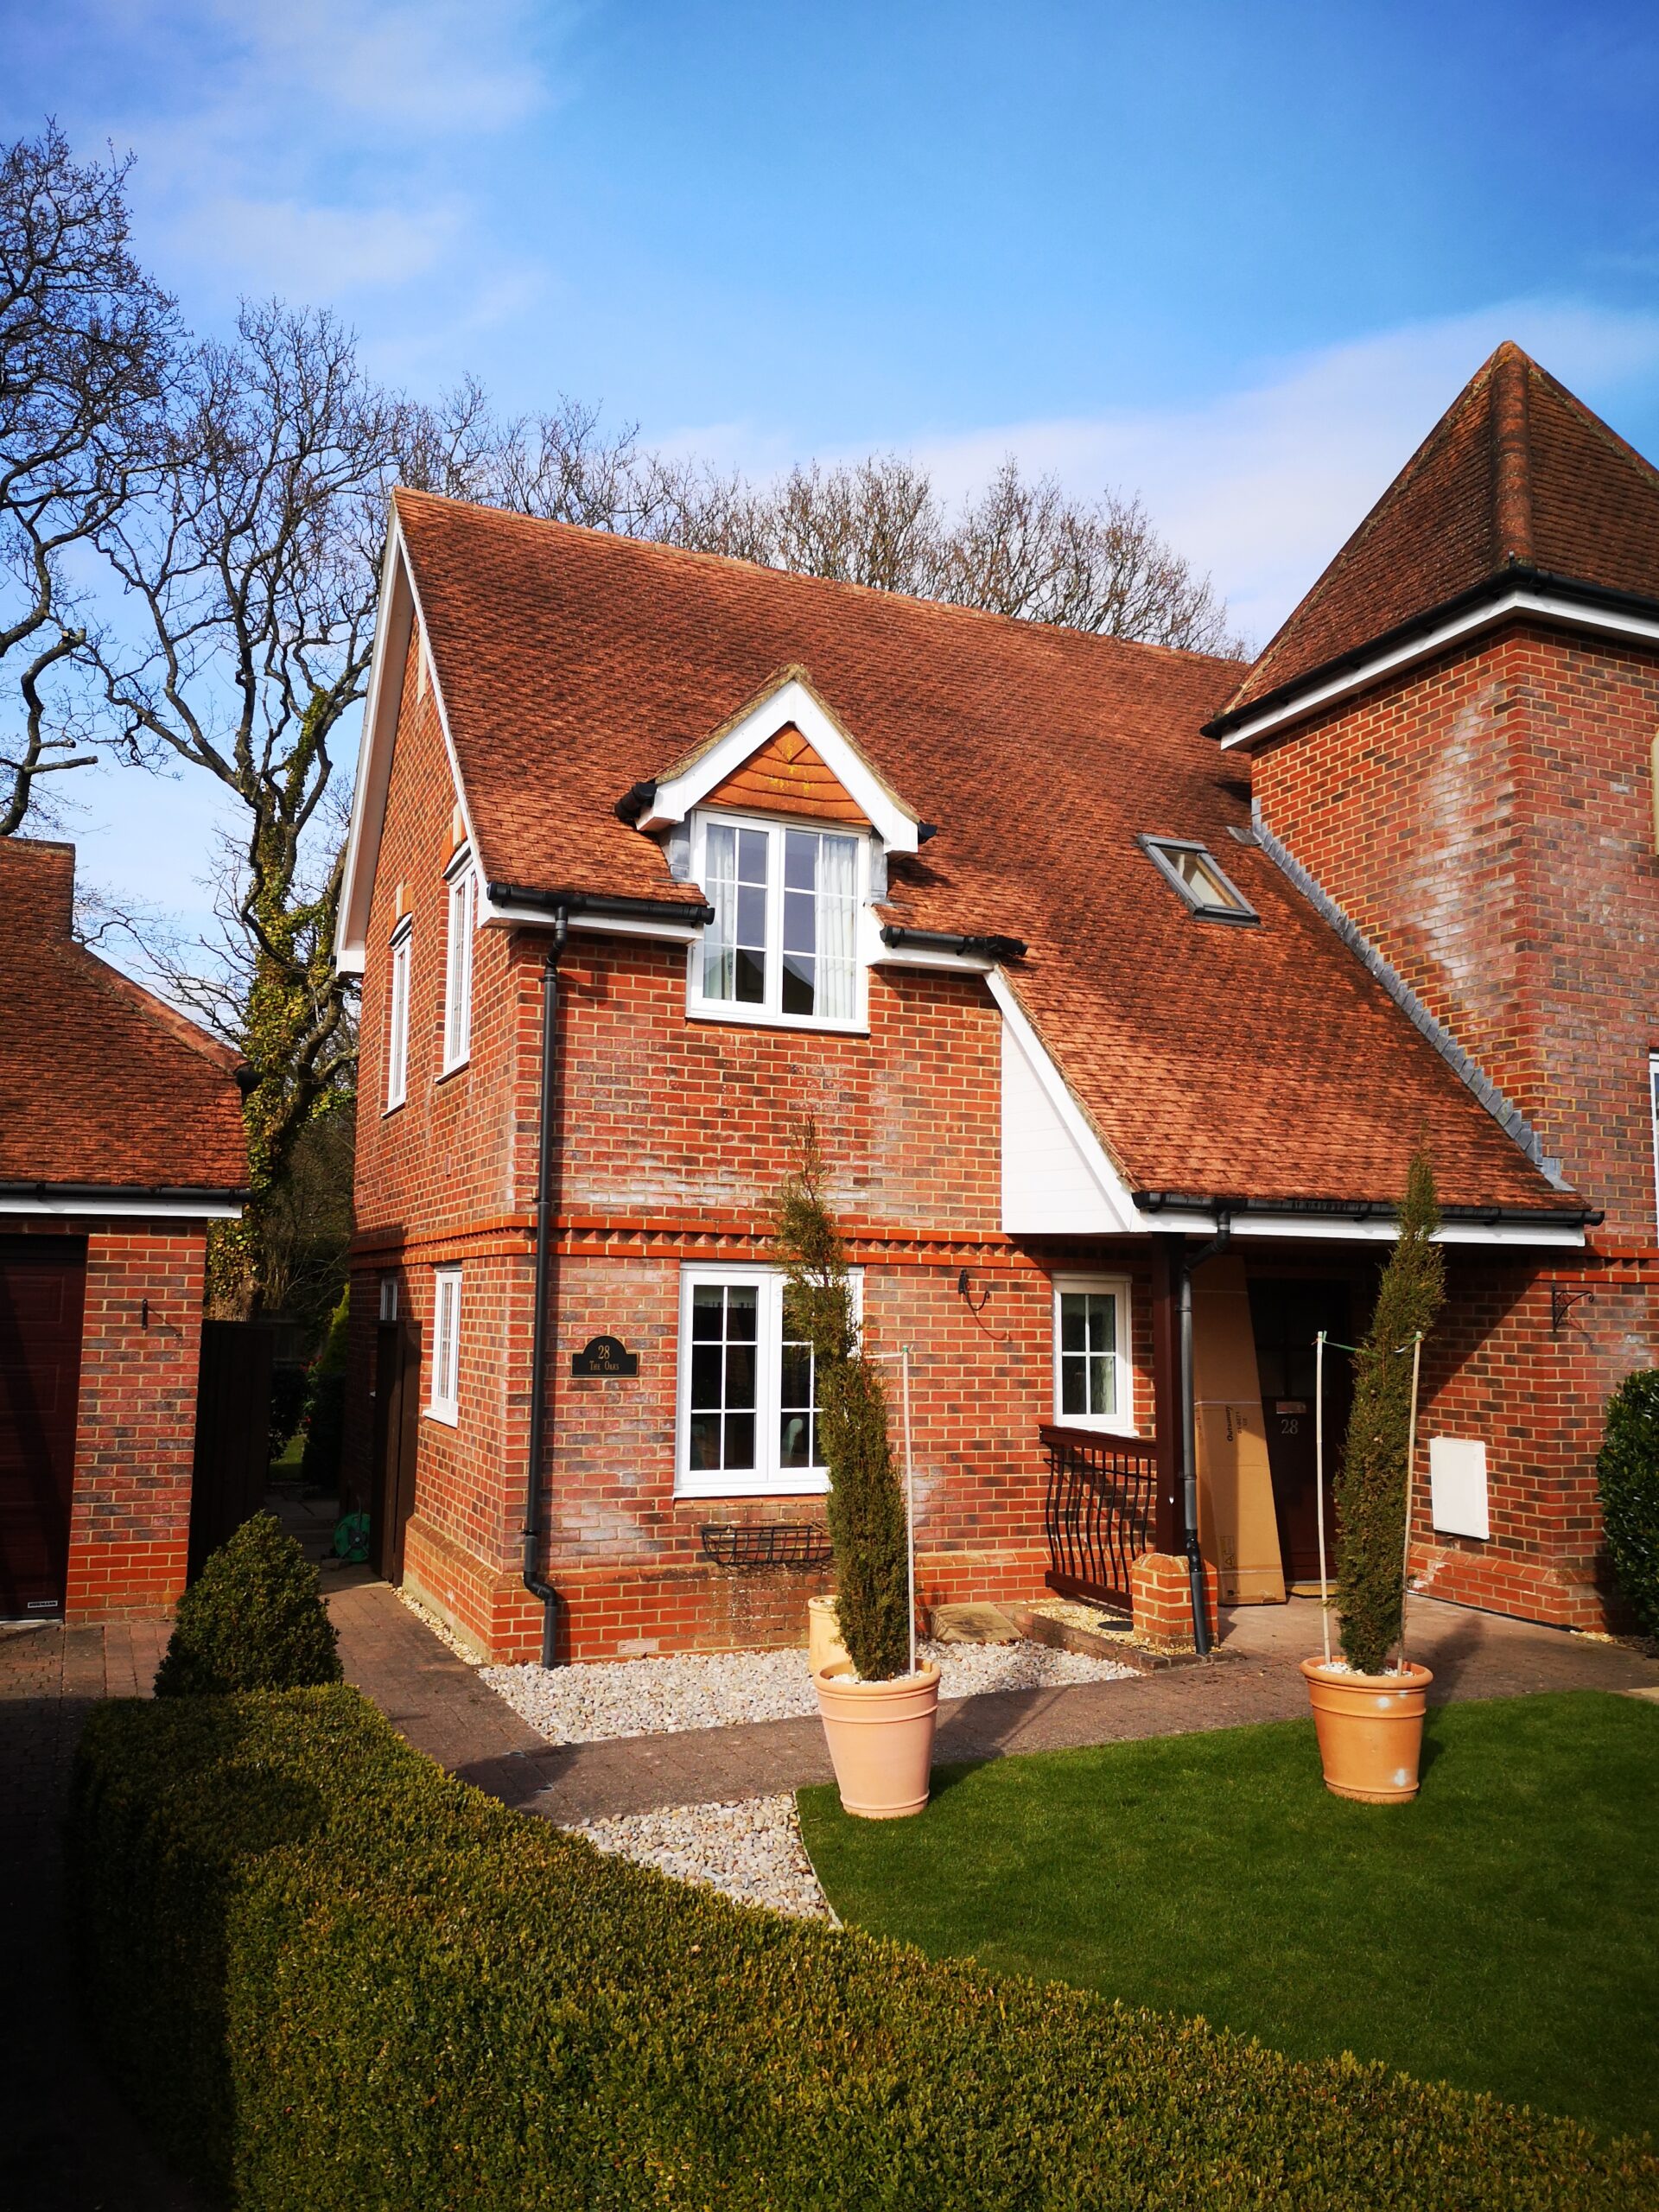
<path fill-rule="evenodd" d="M 352 1068 L 330 799 L 367 681 L 387 489 L 405 460 L 442 473 L 469 438 L 465 405 L 438 418 L 378 392 L 332 316 L 243 307 L 237 343 L 186 365 L 157 484 L 102 531 L 142 630 L 135 650 L 97 646 L 119 743 L 204 770 L 239 810 L 221 960 L 195 989 L 170 978 L 252 1068 L 252 1201 L 215 1243 L 223 1312 L 259 1301 L 263 1214 Z"/>

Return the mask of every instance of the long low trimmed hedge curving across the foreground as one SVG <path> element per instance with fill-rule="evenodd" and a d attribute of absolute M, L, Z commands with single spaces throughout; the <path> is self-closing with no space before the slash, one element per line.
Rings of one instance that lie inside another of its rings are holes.
<path fill-rule="evenodd" d="M 352 1690 L 97 1708 L 71 1845 L 108 2055 L 254 2212 L 1659 2205 L 1568 2121 L 681 1889 Z"/>

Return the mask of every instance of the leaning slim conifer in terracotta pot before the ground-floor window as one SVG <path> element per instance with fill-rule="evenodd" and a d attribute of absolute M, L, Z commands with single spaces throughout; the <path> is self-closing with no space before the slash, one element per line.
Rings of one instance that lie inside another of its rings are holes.
<path fill-rule="evenodd" d="M 818 1668 L 818 1712 L 841 1803 L 865 1820 L 927 1805 L 938 1668 L 911 1672 L 909 1528 L 887 1433 L 887 1391 L 858 1338 L 847 1252 L 823 1194 L 807 1124 L 801 1168 L 776 1206 L 792 1332 L 812 1345 L 818 1451 L 830 1469 L 836 1624 L 847 1659 Z"/>

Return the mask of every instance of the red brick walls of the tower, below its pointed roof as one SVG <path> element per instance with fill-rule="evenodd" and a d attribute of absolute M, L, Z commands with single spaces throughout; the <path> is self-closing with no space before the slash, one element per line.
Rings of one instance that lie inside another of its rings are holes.
<path fill-rule="evenodd" d="M 1254 763 L 1263 823 L 1606 1210 L 1582 1259 L 1453 1263 L 1427 1413 L 1486 1440 L 1493 1533 L 1438 1537 L 1427 1491 L 1416 1520 L 1425 1586 L 1575 1626 L 1610 1597 L 1606 1398 L 1655 1358 L 1657 730 L 1659 657 L 1515 626 Z"/>

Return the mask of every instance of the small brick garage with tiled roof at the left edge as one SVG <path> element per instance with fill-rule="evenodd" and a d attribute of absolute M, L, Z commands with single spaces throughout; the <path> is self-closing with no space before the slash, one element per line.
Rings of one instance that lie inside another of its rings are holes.
<path fill-rule="evenodd" d="M 71 936 L 73 845 L 0 838 L 0 1619 L 170 1610 L 237 1057 Z"/>

